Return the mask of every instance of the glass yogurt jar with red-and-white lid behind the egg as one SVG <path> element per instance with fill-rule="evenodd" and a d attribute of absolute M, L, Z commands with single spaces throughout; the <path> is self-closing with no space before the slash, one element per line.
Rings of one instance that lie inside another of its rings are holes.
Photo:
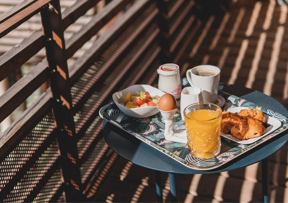
<path fill-rule="evenodd" d="M 159 66 L 157 73 L 159 74 L 158 89 L 172 94 L 178 99 L 182 91 L 179 66 L 177 64 L 163 64 Z"/>

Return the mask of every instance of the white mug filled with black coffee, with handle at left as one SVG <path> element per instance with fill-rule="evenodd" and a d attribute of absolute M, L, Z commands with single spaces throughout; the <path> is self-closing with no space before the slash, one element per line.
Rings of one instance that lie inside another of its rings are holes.
<path fill-rule="evenodd" d="M 200 76 L 196 73 L 210 71 L 215 74 L 211 76 Z M 220 80 L 220 68 L 211 65 L 196 66 L 187 70 L 186 78 L 191 86 L 199 87 L 202 90 L 202 96 L 204 102 L 215 103 L 217 101 L 219 80 Z"/>

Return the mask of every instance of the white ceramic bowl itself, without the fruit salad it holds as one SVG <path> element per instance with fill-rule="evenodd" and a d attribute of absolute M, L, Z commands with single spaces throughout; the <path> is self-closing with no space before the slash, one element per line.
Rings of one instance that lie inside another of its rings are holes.
<path fill-rule="evenodd" d="M 134 117 L 134 118 L 145 118 L 152 116 L 154 114 L 157 114 L 159 112 L 157 106 L 147 106 L 147 107 L 139 107 L 139 108 L 133 108 L 133 109 L 128 109 L 124 106 L 122 106 L 119 103 L 123 102 L 124 96 L 128 93 L 131 92 L 134 94 L 135 91 L 143 91 L 143 92 L 149 92 L 151 97 L 154 97 L 158 95 L 161 97 L 165 93 L 162 92 L 161 90 L 152 87 L 151 85 L 132 85 L 120 92 L 115 92 L 112 97 L 115 102 L 115 104 L 118 106 L 118 108 L 126 115 Z"/>

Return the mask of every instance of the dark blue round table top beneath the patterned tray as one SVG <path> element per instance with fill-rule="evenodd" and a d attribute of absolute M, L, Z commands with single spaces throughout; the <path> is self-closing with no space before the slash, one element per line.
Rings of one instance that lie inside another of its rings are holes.
<path fill-rule="evenodd" d="M 282 104 L 262 92 L 228 84 L 222 84 L 220 87 L 220 89 L 226 93 L 234 94 L 257 105 L 265 106 L 266 108 L 269 108 L 284 116 L 288 115 L 287 109 Z M 236 158 L 223 166 L 220 166 L 219 168 L 210 171 L 199 171 L 187 168 L 167 155 L 133 137 L 129 133 L 107 122 L 106 120 L 103 123 L 103 137 L 106 143 L 120 156 L 145 168 L 168 173 L 182 174 L 219 173 L 257 163 L 277 152 L 287 142 L 287 132 L 288 131 L 284 131 L 269 141 L 261 144 L 258 148 L 254 148 L 253 150 L 239 156 L 239 158 Z M 154 158 L 151 159 L 151 157 Z"/>

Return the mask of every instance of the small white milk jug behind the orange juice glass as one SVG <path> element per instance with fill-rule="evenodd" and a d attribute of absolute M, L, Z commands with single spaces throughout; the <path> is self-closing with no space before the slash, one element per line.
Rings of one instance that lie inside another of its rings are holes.
<path fill-rule="evenodd" d="M 199 87 L 185 87 L 181 92 L 180 111 L 184 120 L 184 109 L 194 103 L 203 102 L 201 89 Z"/>

